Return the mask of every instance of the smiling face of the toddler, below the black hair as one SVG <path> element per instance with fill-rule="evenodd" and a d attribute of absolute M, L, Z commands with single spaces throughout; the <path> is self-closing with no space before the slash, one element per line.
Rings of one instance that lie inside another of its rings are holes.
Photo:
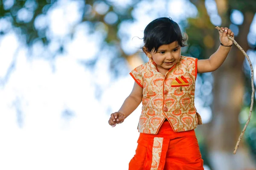
<path fill-rule="evenodd" d="M 157 64 L 158 71 L 165 74 L 180 60 L 180 48 L 178 42 L 175 41 L 167 45 L 161 45 L 156 52 L 152 50 L 147 53 L 147 56 L 152 57 Z"/>

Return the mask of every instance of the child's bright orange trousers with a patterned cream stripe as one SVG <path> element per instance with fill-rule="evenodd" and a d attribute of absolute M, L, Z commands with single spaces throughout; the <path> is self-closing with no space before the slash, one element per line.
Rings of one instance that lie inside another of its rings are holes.
<path fill-rule="evenodd" d="M 140 133 L 129 170 L 204 170 L 195 130 L 174 132 L 168 121 L 156 135 Z"/>

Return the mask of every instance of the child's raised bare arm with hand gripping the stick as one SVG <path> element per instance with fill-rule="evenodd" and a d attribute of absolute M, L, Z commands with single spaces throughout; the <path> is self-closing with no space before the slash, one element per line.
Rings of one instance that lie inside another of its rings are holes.
<path fill-rule="evenodd" d="M 219 46 L 218 50 L 211 55 L 209 59 L 198 59 L 197 68 L 198 73 L 205 73 L 217 70 L 227 58 L 230 52 L 233 41 L 229 40 L 227 36 L 234 37 L 234 33 L 227 27 L 221 29 L 224 31 L 220 34 L 220 41 L 222 45 Z"/>

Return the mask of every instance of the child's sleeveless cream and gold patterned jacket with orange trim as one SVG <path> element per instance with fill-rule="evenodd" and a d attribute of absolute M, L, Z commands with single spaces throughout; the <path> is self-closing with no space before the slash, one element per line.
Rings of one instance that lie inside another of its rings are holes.
<path fill-rule="evenodd" d="M 197 59 L 181 56 L 165 75 L 157 71 L 153 59 L 131 71 L 143 88 L 140 133 L 157 134 L 165 119 L 175 132 L 192 130 L 202 124 L 195 108 Z"/>

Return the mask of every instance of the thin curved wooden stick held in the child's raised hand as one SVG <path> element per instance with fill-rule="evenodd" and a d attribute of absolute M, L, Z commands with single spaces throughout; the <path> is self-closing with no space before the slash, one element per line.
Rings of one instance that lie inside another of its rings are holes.
<path fill-rule="evenodd" d="M 220 27 L 216 26 L 215 27 L 216 29 L 218 29 L 218 31 L 220 31 L 221 33 L 223 33 L 223 31 L 221 30 Z M 251 105 L 250 105 L 250 113 L 249 113 L 249 116 L 248 116 L 248 119 L 246 121 L 246 124 L 244 125 L 244 128 L 238 138 L 238 141 L 236 142 L 236 147 L 234 149 L 234 152 L 233 154 L 236 154 L 236 150 L 237 148 L 239 147 L 239 143 L 244 135 L 244 132 L 246 130 L 246 127 L 248 126 L 249 122 L 250 122 L 250 117 L 252 115 L 252 111 L 253 111 L 253 101 L 254 101 L 254 81 L 253 81 L 253 65 L 252 65 L 252 62 L 250 61 L 250 58 L 249 56 L 246 54 L 246 52 L 244 51 L 243 48 L 241 48 L 241 46 L 232 38 L 232 37 L 228 37 L 230 40 L 232 40 L 234 42 L 234 44 L 239 48 L 239 50 L 242 51 L 242 53 L 244 54 L 244 56 L 246 57 L 246 59 L 248 60 L 249 62 L 249 65 L 250 65 L 250 69 L 251 69 L 251 84 L 252 84 L 252 96 L 251 96 Z"/>

